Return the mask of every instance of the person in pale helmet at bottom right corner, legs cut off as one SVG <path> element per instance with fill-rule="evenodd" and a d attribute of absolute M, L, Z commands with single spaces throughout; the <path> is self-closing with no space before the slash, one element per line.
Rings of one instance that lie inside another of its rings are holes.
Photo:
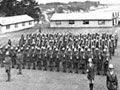
<path fill-rule="evenodd" d="M 113 64 L 109 64 L 109 71 L 107 73 L 106 80 L 108 90 L 118 90 L 118 79 L 113 69 L 114 69 Z"/>

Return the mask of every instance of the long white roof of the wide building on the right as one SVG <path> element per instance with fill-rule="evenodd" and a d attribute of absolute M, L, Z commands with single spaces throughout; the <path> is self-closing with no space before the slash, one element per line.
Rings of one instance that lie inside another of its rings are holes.
<path fill-rule="evenodd" d="M 112 13 L 89 12 L 89 13 L 55 13 L 50 20 L 111 20 Z"/>

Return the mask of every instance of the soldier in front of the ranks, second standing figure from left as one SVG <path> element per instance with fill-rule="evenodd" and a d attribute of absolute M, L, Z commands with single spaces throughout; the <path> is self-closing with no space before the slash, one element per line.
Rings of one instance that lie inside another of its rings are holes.
<path fill-rule="evenodd" d="M 21 53 L 20 49 L 18 50 L 18 53 L 16 55 L 16 63 L 18 65 L 18 74 L 22 74 L 22 64 L 23 64 L 23 54 Z"/>

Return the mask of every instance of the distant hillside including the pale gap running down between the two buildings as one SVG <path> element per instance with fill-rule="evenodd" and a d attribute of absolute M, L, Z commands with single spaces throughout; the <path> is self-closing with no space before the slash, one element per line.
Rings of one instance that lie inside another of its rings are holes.
<path fill-rule="evenodd" d="M 40 4 L 39 8 L 42 12 L 41 21 L 49 21 L 54 13 L 72 13 L 72 12 L 89 12 L 91 10 L 96 10 L 104 8 L 106 5 L 100 2 L 85 1 L 85 2 L 52 2 L 46 4 Z M 44 15 L 43 15 L 44 14 Z"/>

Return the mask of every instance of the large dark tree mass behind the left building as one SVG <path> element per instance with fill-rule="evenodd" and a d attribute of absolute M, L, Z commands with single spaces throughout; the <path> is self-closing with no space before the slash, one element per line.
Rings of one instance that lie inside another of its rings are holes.
<path fill-rule="evenodd" d="M 6 16 L 27 14 L 35 20 L 40 18 L 41 10 L 35 0 L 0 0 L 0 10 Z"/>

